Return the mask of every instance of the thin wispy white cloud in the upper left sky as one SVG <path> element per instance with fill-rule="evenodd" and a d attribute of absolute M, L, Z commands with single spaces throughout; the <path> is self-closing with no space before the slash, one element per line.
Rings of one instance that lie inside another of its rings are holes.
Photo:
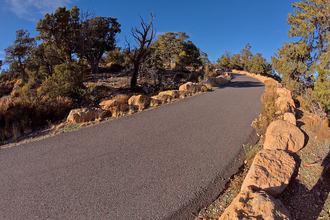
<path fill-rule="evenodd" d="M 36 21 L 73 0 L 6 0 L 7 7 L 19 18 Z"/>

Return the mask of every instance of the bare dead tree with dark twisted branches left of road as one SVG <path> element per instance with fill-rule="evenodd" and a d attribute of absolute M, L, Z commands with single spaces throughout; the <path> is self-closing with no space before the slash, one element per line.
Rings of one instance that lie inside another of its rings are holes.
<path fill-rule="evenodd" d="M 142 17 L 138 14 L 138 16 L 141 18 L 141 27 L 143 31 L 140 31 L 140 27 L 132 27 L 131 29 L 131 35 L 134 37 L 134 40 L 136 44 L 131 47 L 131 42 L 127 40 L 125 36 L 125 54 L 129 57 L 129 59 L 132 61 L 134 65 L 133 69 L 133 75 L 131 78 L 131 91 L 133 91 L 136 87 L 136 83 L 138 81 L 138 76 L 139 76 L 139 70 L 140 70 L 140 65 L 141 61 L 146 54 L 152 39 L 155 37 L 156 34 L 156 29 L 153 31 L 153 25 L 152 25 L 152 20 L 156 17 L 155 14 L 150 13 L 151 15 L 151 20 L 149 24 L 144 22 Z M 151 28 L 151 30 L 150 30 Z M 151 34 L 149 34 L 151 31 Z"/>

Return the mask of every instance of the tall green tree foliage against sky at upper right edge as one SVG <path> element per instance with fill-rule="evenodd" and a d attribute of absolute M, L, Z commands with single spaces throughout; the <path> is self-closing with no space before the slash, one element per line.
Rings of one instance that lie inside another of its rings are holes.
<path fill-rule="evenodd" d="M 330 68 L 330 5 L 324 0 L 304 0 L 292 5 L 294 14 L 288 14 L 289 37 L 298 37 L 297 47 L 305 47 L 311 54 L 306 68 L 310 74 L 317 73 L 315 94 L 325 110 L 329 111 L 329 68 Z M 314 80 L 313 80 L 314 82 Z M 303 84 L 304 82 L 301 82 Z"/>

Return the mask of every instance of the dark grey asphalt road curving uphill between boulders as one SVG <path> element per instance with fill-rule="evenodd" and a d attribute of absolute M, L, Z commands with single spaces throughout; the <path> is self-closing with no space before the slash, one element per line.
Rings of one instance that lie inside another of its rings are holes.
<path fill-rule="evenodd" d="M 0 149 L 0 219 L 193 219 L 237 172 L 264 84 Z"/>

